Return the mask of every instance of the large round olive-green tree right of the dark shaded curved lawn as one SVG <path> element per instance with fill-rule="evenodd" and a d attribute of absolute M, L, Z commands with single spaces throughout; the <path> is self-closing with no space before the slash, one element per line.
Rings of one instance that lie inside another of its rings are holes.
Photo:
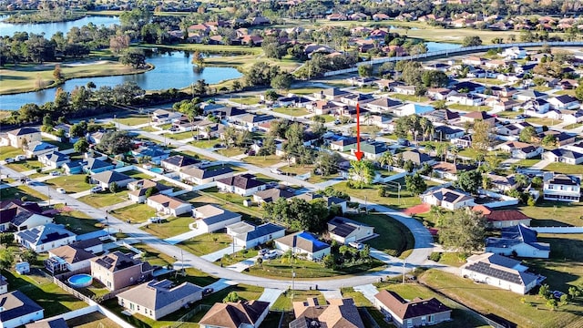
<path fill-rule="evenodd" d="M 439 230 L 439 242 L 455 251 L 480 251 L 486 237 L 486 219 L 469 208 L 446 215 Z"/>

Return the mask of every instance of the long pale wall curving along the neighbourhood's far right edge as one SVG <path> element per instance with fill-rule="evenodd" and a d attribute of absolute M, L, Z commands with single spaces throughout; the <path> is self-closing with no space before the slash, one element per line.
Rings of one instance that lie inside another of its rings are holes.
<path fill-rule="evenodd" d="M 446 49 L 446 50 L 439 50 L 439 51 L 432 51 L 424 54 L 419 55 L 411 55 L 411 56 L 394 56 L 394 57 L 381 57 L 375 58 L 373 60 L 365 61 L 356 63 L 355 67 L 339 69 L 335 71 L 330 71 L 324 73 L 324 77 L 332 77 L 335 75 L 341 75 L 345 73 L 352 73 L 358 71 L 358 67 L 362 65 L 376 65 L 382 64 L 386 62 L 398 62 L 403 60 L 414 60 L 414 59 L 425 59 L 435 56 L 450 56 L 455 54 L 464 54 L 464 53 L 475 53 L 475 52 L 483 52 L 489 49 L 497 49 L 497 48 L 507 48 L 507 47 L 528 47 L 528 46 L 583 46 L 583 42 L 574 41 L 574 42 L 563 42 L 563 41 L 553 41 L 553 42 L 523 42 L 523 43 L 513 43 L 513 44 L 500 44 L 500 45 L 487 45 L 487 46 L 466 46 L 457 49 Z"/>

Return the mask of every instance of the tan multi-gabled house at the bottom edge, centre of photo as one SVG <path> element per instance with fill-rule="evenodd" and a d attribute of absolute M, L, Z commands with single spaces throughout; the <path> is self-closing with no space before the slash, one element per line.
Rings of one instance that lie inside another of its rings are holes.
<path fill-rule="evenodd" d="M 328 304 L 320 304 L 317 298 L 306 302 L 293 302 L 295 320 L 290 327 L 338 327 L 364 328 L 352 298 L 330 299 Z"/>

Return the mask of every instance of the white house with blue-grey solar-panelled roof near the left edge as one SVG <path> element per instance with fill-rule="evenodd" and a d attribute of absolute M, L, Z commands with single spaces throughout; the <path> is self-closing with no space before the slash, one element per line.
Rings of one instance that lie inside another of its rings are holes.
<path fill-rule="evenodd" d="M 77 240 L 77 235 L 61 224 L 46 223 L 15 233 L 15 241 L 37 253 L 50 251 Z"/>

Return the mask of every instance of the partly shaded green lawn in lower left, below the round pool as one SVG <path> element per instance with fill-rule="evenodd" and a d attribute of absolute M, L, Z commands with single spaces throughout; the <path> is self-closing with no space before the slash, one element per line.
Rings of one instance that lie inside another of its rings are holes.
<path fill-rule="evenodd" d="M 53 279 L 39 269 L 32 269 L 26 275 L 13 274 L 3 270 L 10 291 L 19 290 L 35 300 L 43 309 L 45 317 L 67 313 L 87 307 L 87 303 L 63 291 Z"/>

